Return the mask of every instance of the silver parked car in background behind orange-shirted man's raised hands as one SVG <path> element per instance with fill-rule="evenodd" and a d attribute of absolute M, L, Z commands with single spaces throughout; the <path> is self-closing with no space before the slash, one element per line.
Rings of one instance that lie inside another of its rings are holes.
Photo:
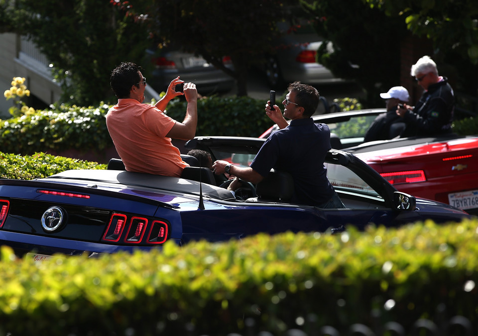
<path fill-rule="evenodd" d="M 153 65 L 152 78 L 148 78 L 148 84 L 158 92 L 165 91 L 169 83 L 178 76 L 185 82 L 195 83 L 200 94 L 229 92 L 234 87 L 233 77 L 201 56 L 179 48 L 148 49 L 147 55 Z M 234 69 L 230 57 L 224 57 L 223 63 L 227 68 Z"/>

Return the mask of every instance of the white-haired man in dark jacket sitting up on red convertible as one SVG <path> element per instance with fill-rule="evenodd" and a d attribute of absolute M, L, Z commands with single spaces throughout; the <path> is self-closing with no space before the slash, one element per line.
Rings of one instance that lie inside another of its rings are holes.
<path fill-rule="evenodd" d="M 450 133 L 455 96 L 448 79 L 438 75 L 437 65 L 429 56 L 412 65 L 410 74 L 425 91 L 415 107 L 397 109 L 406 123 L 402 136 Z"/>

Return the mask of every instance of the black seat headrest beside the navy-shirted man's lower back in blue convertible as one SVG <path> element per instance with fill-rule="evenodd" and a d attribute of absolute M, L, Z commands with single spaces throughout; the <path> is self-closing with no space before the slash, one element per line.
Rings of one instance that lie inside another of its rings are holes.
<path fill-rule="evenodd" d="M 294 179 L 287 172 L 271 170 L 255 192 L 258 201 L 288 202 L 294 194 Z"/>

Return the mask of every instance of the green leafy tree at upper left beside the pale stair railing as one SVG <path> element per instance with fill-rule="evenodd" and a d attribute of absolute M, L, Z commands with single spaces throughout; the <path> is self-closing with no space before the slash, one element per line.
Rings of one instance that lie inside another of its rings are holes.
<path fill-rule="evenodd" d="M 112 97 L 111 71 L 121 61 L 139 62 L 149 43 L 145 26 L 108 1 L 1 0 L 0 8 L 1 31 L 28 36 L 51 62 L 63 102 L 88 106 Z"/>

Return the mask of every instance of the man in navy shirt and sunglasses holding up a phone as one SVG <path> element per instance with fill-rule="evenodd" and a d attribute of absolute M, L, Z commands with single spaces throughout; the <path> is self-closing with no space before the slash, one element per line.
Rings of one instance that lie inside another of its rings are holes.
<path fill-rule="evenodd" d="M 294 179 L 292 203 L 320 208 L 345 208 L 327 178 L 324 166 L 330 145 L 330 130 L 326 124 L 315 124 L 311 118 L 319 105 L 319 93 L 310 86 L 294 82 L 282 102 L 284 115 L 276 105 L 266 106 L 266 114 L 277 123 L 279 130 L 264 142 L 249 167 L 239 167 L 218 160 L 216 174 L 230 174 L 254 184 L 262 181 L 269 171 L 286 171 Z M 290 124 L 285 118 L 291 119 Z M 234 183 L 234 182 L 233 182 Z M 231 186 L 233 189 L 233 183 Z"/>

